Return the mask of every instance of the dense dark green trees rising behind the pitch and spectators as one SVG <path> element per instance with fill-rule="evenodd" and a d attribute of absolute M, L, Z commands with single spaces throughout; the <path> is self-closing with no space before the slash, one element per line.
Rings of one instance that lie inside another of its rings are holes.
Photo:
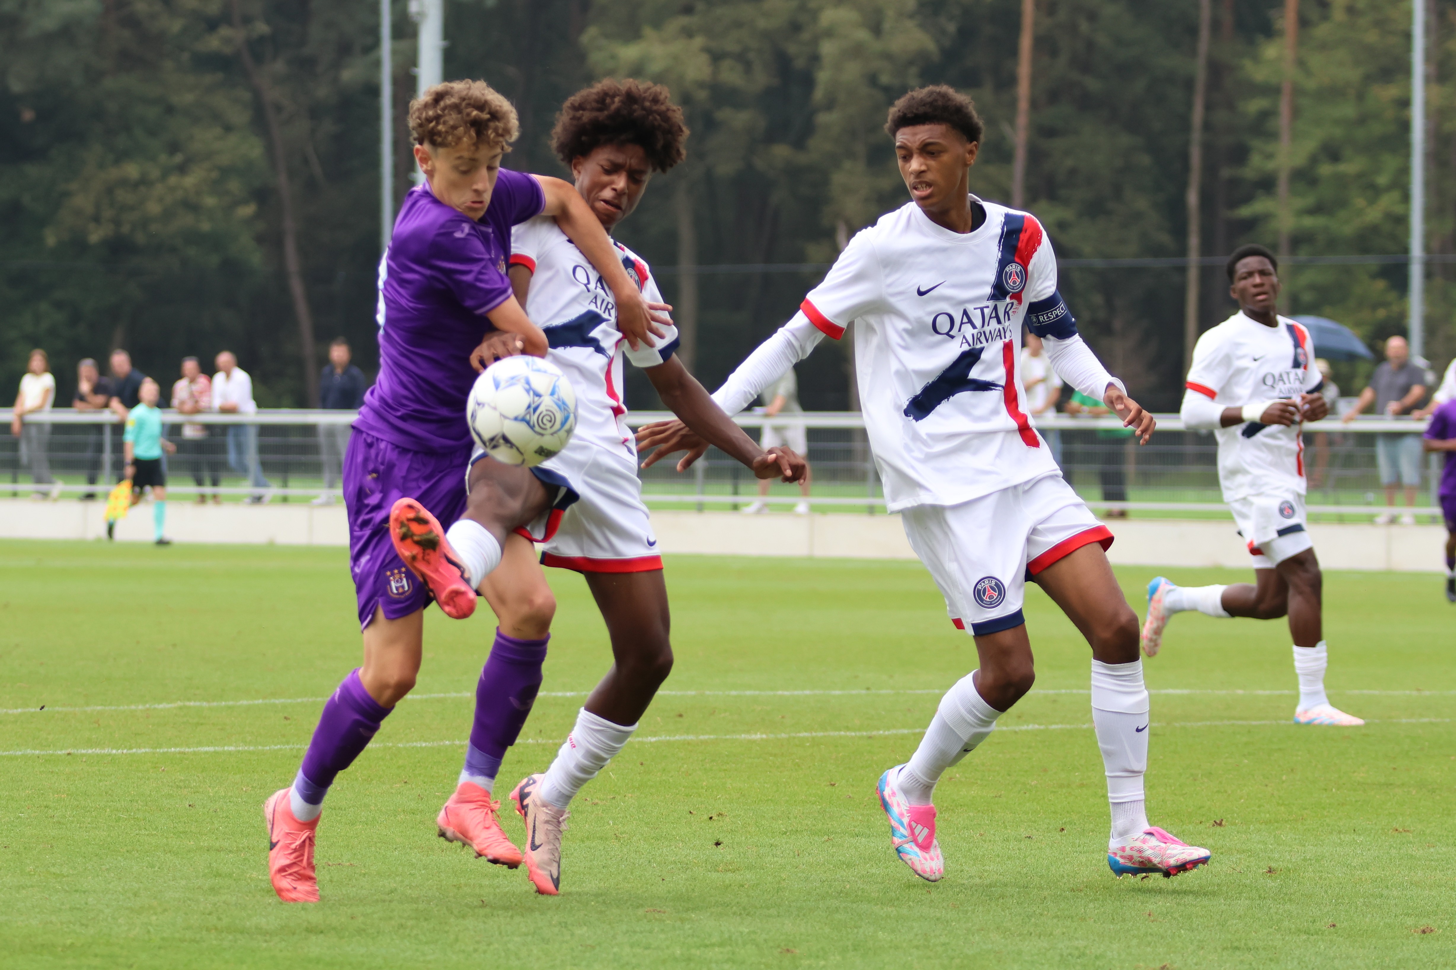
<path fill-rule="evenodd" d="M 1453 253 L 1456 0 L 1425 3 L 1430 249 Z M 546 144 L 552 116 L 596 77 L 661 81 L 684 105 L 689 161 L 649 189 L 623 240 L 654 262 L 690 333 L 684 356 L 708 384 L 818 278 L 766 265 L 827 263 L 849 234 L 903 204 L 881 125 L 891 100 L 922 83 L 976 97 L 987 135 L 974 189 L 1009 202 L 1019 188 L 1063 257 L 1182 256 L 1190 225 L 1213 254 L 1246 240 L 1274 246 L 1281 228 L 1294 254 L 1404 249 L 1408 3 L 446 6 L 446 76 L 483 77 L 521 112 L 511 167 L 562 173 Z M 414 93 L 405 0 L 392 29 L 403 192 Z M 32 345 L 51 350 L 63 388 L 64 365 L 112 346 L 162 374 L 185 353 L 226 346 L 253 371 L 261 400 L 306 404 L 322 362 L 316 339 L 342 333 L 368 365 L 377 38 L 377 4 L 360 0 L 0 0 L 0 378 L 19 375 Z M 1203 145 L 1190 153 L 1200 63 Z M 1281 151 L 1286 86 L 1293 125 Z M 1456 350 L 1449 273 L 1439 265 L 1428 288 L 1439 361 Z M 1404 266 L 1297 266 L 1286 279 L 1296 313 L 1335 317 L 1370 340 L 1404 329 Z M 1206 329 L 1229 310 L 1222 269 L 1198 284 L 1192 310 Z M 1174 407 L 1184 272 L 1079 266 L 1063 289 L 1108 364 L 1147 388 L 1149 403 Z M 847 353 L 821 350 L 805 365 L 807 404 L 853 404 Z M 652 400 L 645 382 L 629 394 Z"/>

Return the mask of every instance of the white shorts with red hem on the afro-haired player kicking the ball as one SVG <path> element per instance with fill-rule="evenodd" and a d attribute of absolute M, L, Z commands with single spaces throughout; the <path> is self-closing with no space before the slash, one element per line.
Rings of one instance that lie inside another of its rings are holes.
<path fill-rule="evenodd" d="M 540 467 L 565 477 L 579 496 L 558 516 L 553 529 L 531 537 L 542 542 L 543 566 L 578 573 L 662 569 L 652 519 L 642 502 L 636 448 L 574 439 Z"/>

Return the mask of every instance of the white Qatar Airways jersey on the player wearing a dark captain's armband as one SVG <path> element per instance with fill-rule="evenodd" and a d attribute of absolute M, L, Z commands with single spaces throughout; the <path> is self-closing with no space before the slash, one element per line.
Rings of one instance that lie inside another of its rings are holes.
<path fill-rule="evenodd" d="M 981 205 L 986 223 L 964 234 L 914 202 L 885 214 L 799 307 L 836 340 L 855 321 L 865 429 L 891 512 L 1057 471 L 1025 413 L 1021 327 L 1069 339 L 1076 326 L 1041 224 Z"/>

